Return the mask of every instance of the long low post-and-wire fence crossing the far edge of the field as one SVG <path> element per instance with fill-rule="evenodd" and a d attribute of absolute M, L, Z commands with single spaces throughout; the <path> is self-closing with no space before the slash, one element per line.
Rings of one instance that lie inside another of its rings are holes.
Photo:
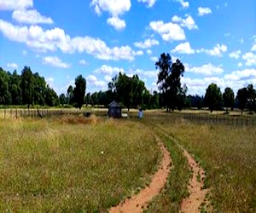
<path fill-rule="evenodd" d="M 79 115 L 90 117 L 91 114 L 96 116 L 107 116 L 108 109 L 19 109 L 9 108 L 0 110 L 0 118 L 51 118 L 63 115 Z M 137 118 L 137 112 L 128 112 L 129 118 Z M 202 113 L 184 113 L 184 112 L 146 112 L 143 115 L 152 119 L 168 118 L 171 121 L 175 119 L 189 120 L 196 124 L 224 124 L 236 126 L 256 126 L 256 117 L 254 116 L 233 116 L 233 115 L 211 115 Z M 163 119 L 164 120 L 164 119 Z"/>

